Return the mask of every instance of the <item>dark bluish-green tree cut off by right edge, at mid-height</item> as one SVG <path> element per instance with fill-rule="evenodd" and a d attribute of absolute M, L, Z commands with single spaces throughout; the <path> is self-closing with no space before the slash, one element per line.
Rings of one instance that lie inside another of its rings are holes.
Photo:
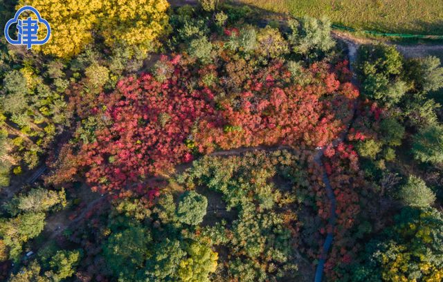
<path fill-rule="evenodd" d="M 413 155 L 421 162 L 443 162 L 443 126 L 431 125 L 413 137 Z"/>

